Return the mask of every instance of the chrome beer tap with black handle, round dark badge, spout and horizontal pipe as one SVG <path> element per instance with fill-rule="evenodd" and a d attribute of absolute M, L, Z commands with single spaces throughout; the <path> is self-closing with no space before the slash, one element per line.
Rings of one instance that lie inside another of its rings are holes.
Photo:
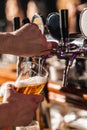
<path fill-rule="evenodd" d="M 49 14 L 47 17 L 47 26 L 50 34 L 59 41 L 58 47 L 54 48 L 52 53 L 57 55 L 59 59 L 65 59 L 66 61 L 63 74 L 63 87 L 67 87 L 68 75 L 73 61 L 76 58 L 86 58 L 87 56 L 87 41 L 83 36 L 69 41 L 68 10 L 59 10 L 59 12 Z"/>

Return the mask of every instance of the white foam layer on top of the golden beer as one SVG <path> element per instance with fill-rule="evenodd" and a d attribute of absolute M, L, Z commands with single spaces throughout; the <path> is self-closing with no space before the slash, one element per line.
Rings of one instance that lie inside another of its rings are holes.
<path fill-rule="evenodd" d="M 28 85 L 33 86 L 34 84 L 42 84 L 45 83 L 47 81 L 46 77 L 41 77 L 41 76 L 35 76 L 35 77 L 30 77 L 29 79 L 24 79 L 24 80 L 20 80 L 15 82 L 15 87 L 25 87 Z"/>

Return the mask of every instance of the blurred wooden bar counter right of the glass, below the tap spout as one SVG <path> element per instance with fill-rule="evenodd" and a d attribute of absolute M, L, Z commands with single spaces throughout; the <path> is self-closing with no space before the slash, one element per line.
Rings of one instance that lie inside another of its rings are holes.
<path fill-rule="evenodd" d="M 61 105 L 72 105 L 73 107 L 87 110 L 87 88 L 63 87 L 62 81 L 48 82 L 48 96 L 50 102 Z"/>

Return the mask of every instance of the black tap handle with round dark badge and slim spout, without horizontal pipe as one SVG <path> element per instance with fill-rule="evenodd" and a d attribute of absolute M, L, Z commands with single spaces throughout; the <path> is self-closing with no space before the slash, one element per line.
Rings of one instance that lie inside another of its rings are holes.
<path fill-rule="evenodd" d="M 49 17 L 50 16 L 50 17 Z M 47 18 L 47 26 L 49 28 L 49 31 L 51 32 L 51 34 L 53 35 L 53 37 L 59 40 L 59 45 L 58 45 L 58 49 L 54 50 L 54 54 L 56 53 L 56 55 L 59 58 L 63 58 L 66 59 L 66 67 L 65 67 L 65 71 L 64 71 L 64 76 L 63 76 L 63 86 L 66 86 L 67 83 L 67 76 L 68 76 L 68 72 L 69 72 L 69 68 L 70 68 L 70 58 L 69 57 L 65 57 L 65 53 L 68 52 L 68 10 L 60 10 L 59 13 L 53 13 L 51 15 L 49 15 Z M 58 21 L 57 21 L 58 20 Z M 57 27 L 54 26 L 55 23 L 57 22 Z M 53 28 L 53 33 L 52 33 L 52 28 Z M 58 29 L 55 31 L 54 33 L 54 29 Z M 55 34 L 57 34 L 55 36 Z"/>

